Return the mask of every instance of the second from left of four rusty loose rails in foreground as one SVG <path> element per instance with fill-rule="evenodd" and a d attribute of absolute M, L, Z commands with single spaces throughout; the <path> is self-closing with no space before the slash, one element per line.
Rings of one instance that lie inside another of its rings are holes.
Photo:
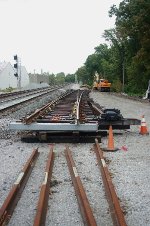
<path fill-rule="evenodd" d="M 37 212 L 34 219 L 34 226 L 45 225 L 53 164 L 54 164 L 54 152 L 52 146 L 49 152 L 48 161 L 45 169 L 45 178 L 41 186 Z"/>

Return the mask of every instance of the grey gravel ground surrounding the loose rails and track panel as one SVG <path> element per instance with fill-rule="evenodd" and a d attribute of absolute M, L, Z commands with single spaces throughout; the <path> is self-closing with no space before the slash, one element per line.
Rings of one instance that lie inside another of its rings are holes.
<path fill-rule="evenodd" d="M 60 92 L 62 90 L 53 95 L 59 95 Z M 91 92 L 90 97 L 105 108 L 118 108 L 126 118 L 141 119 L 141 116 L 145 115 L 147 127 L 150 128 L 149 103 L 140 103 L 99 92 Z M 0 119 L 0 205 L 5 200 L 33 148 L 38 147 L 40 152 L 36 166 L 9 222 L 11 226 L 33 224 L 49 145 L 23 143 L 19 133 L 9 131 L 8 125 L 11 120 L 20 119 L 31 109 L 40 108 L 42 103 L 47 100 L 42 98 L 40 101 L 32 103 L 32 106 L 23 106 L 11 115 L 3 116 Z M 105 153 L 128 226 L 150 225 L 150 139 L 149 136 L 139 135 L 139 129 L 139 126 L 132 126 L 130 130 L 114 131 L 115 146 L 120 150 L 114 153 Z M 107 146 L 106 137 L 102 138 L 101 146 Z M 108 204 L 105 200 L 96 156 L 92 150 L 93 144 L 69 144 L 69 147 L 73 152 L 72 155 L 97 224 L 111 226 Z M 54 146 L 56 157 L 46 225 L 82 226 L 82 218 L 67 168 L 64 149 L 65 144 Z"/>

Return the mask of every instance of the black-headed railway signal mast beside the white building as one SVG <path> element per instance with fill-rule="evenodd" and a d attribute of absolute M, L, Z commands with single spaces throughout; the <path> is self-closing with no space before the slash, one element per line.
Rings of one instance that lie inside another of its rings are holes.
<path fill-rule="evenodd" d="M 15 55 L 14 60 L 16 63 L 14 64 L 15 73 L 14 76 L 17 77 L 17 88 L 21 89 L 21 59 Z"/>

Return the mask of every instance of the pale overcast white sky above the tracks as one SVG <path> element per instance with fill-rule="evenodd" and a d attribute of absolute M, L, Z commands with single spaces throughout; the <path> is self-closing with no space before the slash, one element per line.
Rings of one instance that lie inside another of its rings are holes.
<path fill-rule="evenodd" d="M 21 58 L 28 72 L 75 73 L 113 28 L 121 0 L 0 0 L 0 61 Z"/>

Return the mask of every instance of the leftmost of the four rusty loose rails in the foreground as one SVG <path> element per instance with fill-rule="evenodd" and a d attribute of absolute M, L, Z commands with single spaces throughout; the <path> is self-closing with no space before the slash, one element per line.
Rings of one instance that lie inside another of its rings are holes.
<path fill-rule="evenodd" d="M 38 155 L 39 155 L 38 149 L 33 150 L 30 158 L 26 162 L 16 182 L 14 183 L 12 189 L 10 190 L 6 200 L 4 201 L 2 207 L 0 208 L 0 225 L 6 225 L 10 220 L 15 209 L 15 206 L 17 205 L 21 193 L 32 172 L 32 169 L 35 165 Z"/>

